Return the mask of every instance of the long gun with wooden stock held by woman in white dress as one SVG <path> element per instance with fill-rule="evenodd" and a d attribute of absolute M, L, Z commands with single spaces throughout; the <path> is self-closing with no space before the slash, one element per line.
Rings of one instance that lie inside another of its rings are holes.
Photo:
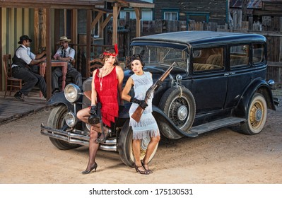
<path fill-rule="evenodd" d="M 165 73 L 163 73 L 163 75 L 160 76 L 160 78 L 158 78 L 158 80 L 155 81 L 155 83 L 153 83 L 153 85 L 150 88 L 148 88 L 148 90 L 146 91 L 145 99 L 144 99 L 146 103 L 148 99 L 150 98 L 151 94 L 153 93 L 153 91 L 155 91 L 155 89 L 158 88 L 161 83 L 163 83 L 163 81 L 168 76 L 168 74 L 170 74 L 170 71 L 172 70 L 174 64 L 176 63 L 173 62 L 172 65 L 170 65 L 170 67 L 165 71 Z M 136 122 L 139 122 L 141 115 L 143 114 L 143 111 L 144 111 L 143 108 L 140 107 L 139 105 L 137 109 L 135 110 L 135 112 L 131 115 L 132 119 L 134 119 Z"/>

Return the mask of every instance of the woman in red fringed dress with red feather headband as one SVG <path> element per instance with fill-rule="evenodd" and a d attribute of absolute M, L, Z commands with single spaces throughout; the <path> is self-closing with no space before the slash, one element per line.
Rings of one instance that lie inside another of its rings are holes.
<path fill-rule="evenodd" d="M 122 101 L 122 81 L 124 72 L 117 61 L 117 45 L 114 49 L 106 49 L 100 55 L 103 66 L 93 71 L 91 107 L 79 110 L 77 117 L 79 120 L 91 124 L 89 139 L 89 160 L 86 170 L 82 174 L 88 174 L 98 167 L 95 162 L 99 142 L 105 141 L 110 134 L 110 127 L 118 117 L 119 101 Z M 118 99 L 119 98 L 119 99 Z M 102 123 L 105 133 L 100 134 L 100 123 L 97 119 L 97 103 L 101 103 Z M 89 119 L 90 118 L 90 119 Z M 89 120 L 88 120 L 89 119 Z M 99 136 L 100 134 L 100 136 Z"/>

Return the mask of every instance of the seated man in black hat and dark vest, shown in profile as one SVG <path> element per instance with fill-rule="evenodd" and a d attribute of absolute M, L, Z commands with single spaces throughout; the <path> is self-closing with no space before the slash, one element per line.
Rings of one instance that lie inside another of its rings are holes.
<path fill-rule="evenodd" d="M 28 37 L 28 35 L 22 35 L 20 37 L 20 41 L 18 42 L 20 46 L 16 50 L 12 59 L 13 77 L 25 81 L 20 91 L 14 95 L 14 97 L 20 101 L 24 101 L 23 95 L 28 95 L 28 93 L 36 84 L 39 86 L 44 97 L 47 97 L 45 79 L 40 76 L 40 74 L 36 74 L 35 72 L 31 71 L 28 67 L 29 65 L 36 65 L 40 62 L 44 62 L 46 60 L 46 53 L 45 51 L 41 52 L 40 54 L 33 54 L 33 52 L 30 52 L 30 42 L 32 42 L 32 40 L 30 37 Z"/>

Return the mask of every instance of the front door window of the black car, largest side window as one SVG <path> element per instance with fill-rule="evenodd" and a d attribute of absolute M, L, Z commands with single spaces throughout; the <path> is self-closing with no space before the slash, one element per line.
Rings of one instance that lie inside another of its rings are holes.
<path fill-rule="evenodd" d="M 193 50 L 193 71 L 222 69 L 223 52 L 223 47 Z"/>

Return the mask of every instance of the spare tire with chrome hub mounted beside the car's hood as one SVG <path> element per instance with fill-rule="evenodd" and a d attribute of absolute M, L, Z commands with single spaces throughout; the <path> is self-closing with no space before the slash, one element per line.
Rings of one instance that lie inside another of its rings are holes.
<path fill-rule="evenodd" d="M 192 127 L 196 103 L 189 89 L 182 86 L 169 88 L 163 94 L 158 106 L 183 132 L 188 132 Z"/>

